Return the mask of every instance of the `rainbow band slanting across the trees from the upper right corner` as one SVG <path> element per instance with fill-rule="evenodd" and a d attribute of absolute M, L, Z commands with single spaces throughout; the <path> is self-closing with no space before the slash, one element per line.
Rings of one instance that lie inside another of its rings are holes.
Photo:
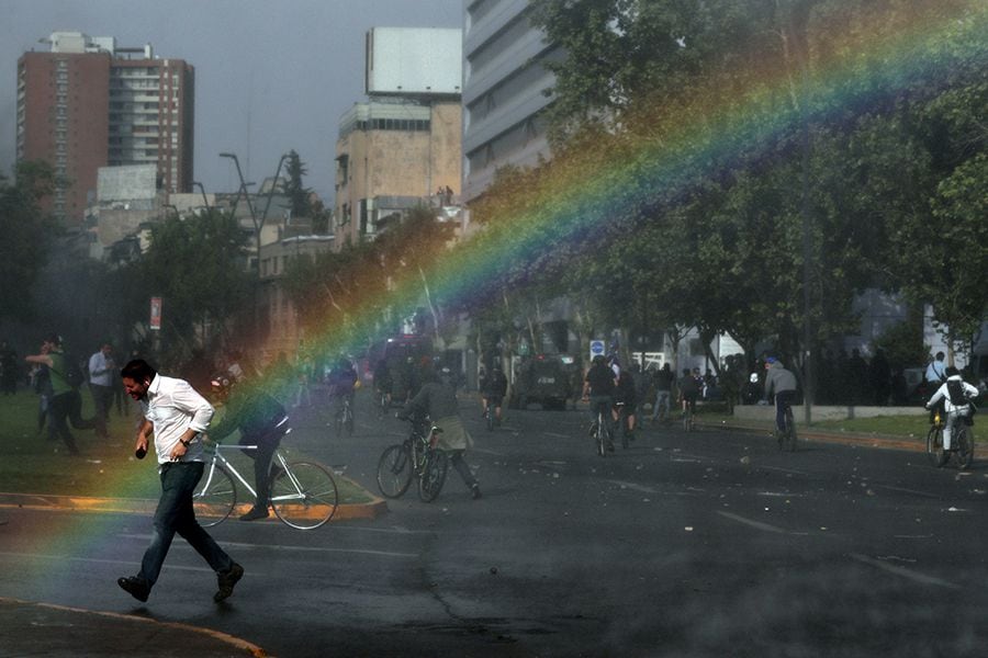
<path fill-rule="evenodd" d="M 535 185 L 526 185 L 524 195 L 509 200 L 499 216 L 489 218 L 479 235 L 453 249 L 437 246 L 429 266 L 395 281 L 388 304 L 412 308 L 425 282 L 434 297 L 454 304 L 483 299 L 491 282 L 502 280 L 514 263 L 537 264 L 548 250 L 576 250 L 606 239 L 621 217 L 757 158 L 798 134 L 804 122 L 860 113 L 931 80 L 948 83 L 957 67 L 988 66 L 988 2 L 916 2 L 895 16 L 875 11 L 857 16 L 850 34 L 834 29 L 838 34 L 826 35 L 828 54 L 818 54 L 806 76 L 794 77 L 785 66 L 739 69 L 730 77 L 734 91 L 721 89 L 721 76 L 681 98 L 649 104 L 628 118 L 630 138 L 621 141 L 627 146 L 611 140 L 609 150 L 594 144 L 583 145 L 581 152 L 570 149 Z M 648 137 L 645 128 L 662 138 Z M 347 309 L 346 325 L 329 316 L 316 344 L 340 353 L 366 343 L 382 302 L 374 296 L 357 302 Z"/>

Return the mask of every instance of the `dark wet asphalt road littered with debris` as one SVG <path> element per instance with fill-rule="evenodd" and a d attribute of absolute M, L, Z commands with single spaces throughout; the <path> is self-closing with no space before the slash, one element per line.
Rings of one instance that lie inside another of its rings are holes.
<path fill-rule="evenodd" d="M 409 491 L 375 520 L 225 523 L 215 534 L 247 567 L 227 604 L 181 542 L 146 605 L 122 598 L 113 579 L 136 568 L 148 519 L 117 514 L 7 512 L 35 532 L 2 535 L 0 594 L 201 625 L 281 657 L 984 655 L 981 463 L 674 429 L 600 458 L 577 412 L 513 412 L 487 433 L 464 411 L 482 500 L 451 474 L 438 501 Z M 368 488 L 405 433 L 295 424 Z"/>

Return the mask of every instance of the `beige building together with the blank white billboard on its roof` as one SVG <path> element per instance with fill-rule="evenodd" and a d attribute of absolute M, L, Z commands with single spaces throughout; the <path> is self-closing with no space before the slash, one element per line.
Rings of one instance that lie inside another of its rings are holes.
<path fill-rule="evenodd" d="M 462 31 L 374 27 L 366 91 L 339 121 L 335 248 L 420 205 L 454 205 L 461 180 Z"/>

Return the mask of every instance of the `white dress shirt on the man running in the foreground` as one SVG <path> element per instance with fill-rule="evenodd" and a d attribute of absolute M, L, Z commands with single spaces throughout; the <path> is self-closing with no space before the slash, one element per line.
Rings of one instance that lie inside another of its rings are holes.
<path fill-rule="evenodd" d="M 171 451 L 186 430 L 197 434 L 182 456 L 182 462 L 203 462 L 201 435 L 210 427 L 213 406 L 199 395 L 184 379 L 155 375 L 141 400 L 144 417 L 155 427 L 155 454 L 158 464 L 171 462 Z"/>

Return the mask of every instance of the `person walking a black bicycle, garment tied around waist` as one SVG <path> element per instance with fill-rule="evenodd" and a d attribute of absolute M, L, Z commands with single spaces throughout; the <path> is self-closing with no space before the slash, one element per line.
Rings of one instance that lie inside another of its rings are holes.
<path fill-rule="evenodd" d="M 413 415 L 428 413 L 433 424 L 439 428 L 437 447 L 449 453 L 449 461 L 463 478 L 470 495 L 481 497 L 480 485 L 470 466 L 463 461 L 463 453 L 473 446 L 473 438 L 460 419 L 457 389 L 453 387 L 452 371 L 444 367 L 439 373 L 426 373 L 426 382 L 418 393 L 405 404 L 397 417 L 407 420 Z"/>

